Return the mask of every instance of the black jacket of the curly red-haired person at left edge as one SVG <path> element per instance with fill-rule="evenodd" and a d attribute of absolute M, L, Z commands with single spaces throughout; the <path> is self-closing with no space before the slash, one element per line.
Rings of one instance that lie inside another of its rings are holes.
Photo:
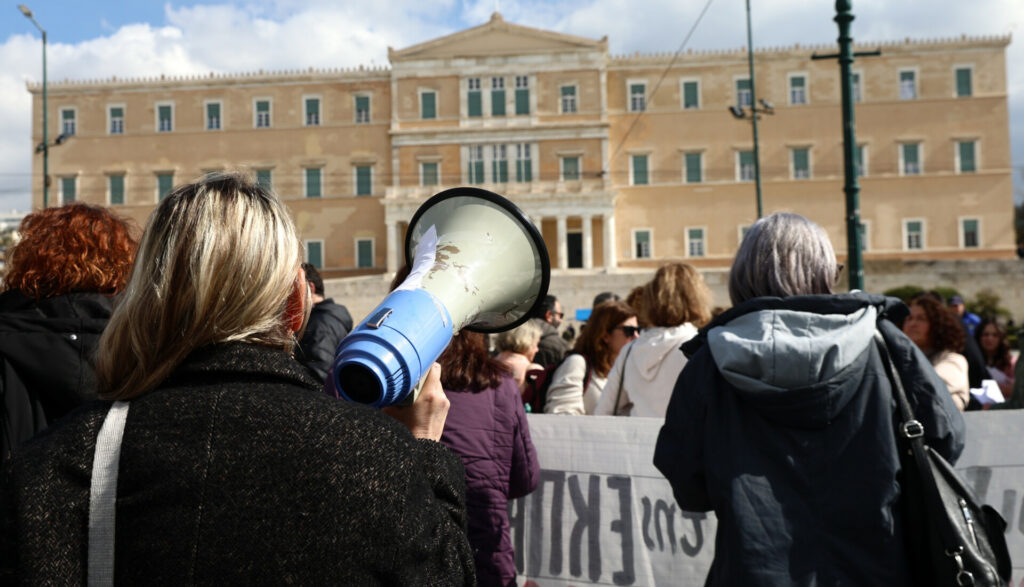
<path fill-rule="evenodd" d="M 0 462 L 95 399 L 93 354 L 111 310 L 111 298 L 95 293 L 39 302 L 17 290 L 0 294 Z"/>

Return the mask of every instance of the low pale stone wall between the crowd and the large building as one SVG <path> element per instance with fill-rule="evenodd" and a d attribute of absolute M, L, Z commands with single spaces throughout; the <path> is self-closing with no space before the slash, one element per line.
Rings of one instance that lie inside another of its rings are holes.
<path fill-rule="evenodd" d="M 653 269 L 621 269 L 613 274 L 601 271 L 555 271 L 551 276 L 550 293 L 558 296 L 566 320 L 574 318 L 577 309 L 589 308 L 594 296 L 610 291 L 626 297 L 634 287 L 653 276 Z M 713 305 L 728 307 L 727 269 L 701 269 L 712 291 Z M 991 289 L 1019 322 L 1024 317 L 1024 260 L 942 260 L 901 261 L 868 260 L 864 270 L 865 289 L 883 292 L 890 288 L 916 285 L 925 289 L 937 286 L 955 288 L 971 299 L 982 289 Z M 356 322 L 365 318 L 387 295 L 390 277 L 370 276 L 328 280 L 327 294 L 348 306 Z M 840 288 L 846 288 L 845 277 Z"/>

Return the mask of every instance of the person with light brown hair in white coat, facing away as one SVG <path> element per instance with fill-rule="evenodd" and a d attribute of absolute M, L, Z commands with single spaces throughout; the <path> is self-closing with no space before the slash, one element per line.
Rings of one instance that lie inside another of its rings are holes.
<path fill-rule="evenodd" d="M 618 353 L 595 416 L 665 418 L 686 365 L 679 346 L 711 320 L 711 292 L 700 274 L 685 263 L 659 267 L 644 285 L 642 300 L 639 305 L 650 327 Z"/>

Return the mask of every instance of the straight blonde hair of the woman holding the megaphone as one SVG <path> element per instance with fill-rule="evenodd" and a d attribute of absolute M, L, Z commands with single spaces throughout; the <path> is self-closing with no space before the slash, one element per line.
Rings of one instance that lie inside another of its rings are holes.
<path fill-rule="evenodd" d="M 128 287 L 99 340 L 99 395 L 129 400 L 151 391 L 209 344 L 290 350 L 289 317 L 297 308 L 287 306 L 300 252 L 287 209 L 251 177 L 216 173 L 174 190 L 150 217 Z"/>

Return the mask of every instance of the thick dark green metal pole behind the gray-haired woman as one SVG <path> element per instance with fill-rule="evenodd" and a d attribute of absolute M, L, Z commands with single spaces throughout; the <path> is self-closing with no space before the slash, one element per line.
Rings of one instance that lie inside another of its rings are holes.
<path fill-rule="evenodd" d="M 749 2 L 750 0 L 748 0 Z M 864 263 L 861 258 L 860 185 L 857 184 L 855 150 L 857 139 L 853 124 L 853 83 L 850 68 L 853 65 L 853 39 L 850 23 L 853 22 L 851 0 L 836 0 L 836 23 L 839 24 L 839 67 L 843 84 L 843 174 L 846 193 L 846 270 L 849 271 L 851 290 L 864 289 Z"/>

